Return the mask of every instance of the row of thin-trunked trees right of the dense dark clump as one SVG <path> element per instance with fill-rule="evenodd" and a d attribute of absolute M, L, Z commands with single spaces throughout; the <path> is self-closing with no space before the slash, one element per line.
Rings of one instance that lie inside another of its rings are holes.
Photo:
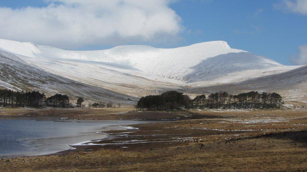
<path fill-rule="evenodd" d="M 250 91 L 238 95 L 231 95 L 228 92 L 216 92 L 206 95 L 196 96 L 190 107 L 192 108 L 223 108 L 223 109 L 267 109 L 280 108 L 283 104 L 282 96 L 278 93 L 258 93 Z"/>

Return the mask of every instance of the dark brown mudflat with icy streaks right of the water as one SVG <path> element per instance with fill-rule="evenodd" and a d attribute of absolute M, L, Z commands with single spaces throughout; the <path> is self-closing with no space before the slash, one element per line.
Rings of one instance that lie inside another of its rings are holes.
<path fill-rule="evenodd" d="M 201 119 L 214 119 L 220 116 L 202 116 Z M 192 118 L 192 119 L 199 119 Z M 180 121 L 179 119 L 175 119 Z M 186 120 L 186 119 L 181 119 Z M 201 135 L 214 135 L 225 132 L 208 130 L 206 133 L 195 133 L 189 130 L 177 130 L 170 128 L 161 128 L 165 123 L 176 122 L 172 119 L 148 122 L 143 124 L 132 124 L 131 129 L 127 130 L 109 130 L 102 131 L 101 134 L 106 134 L 107 137 L 101 140 L 94 140 L 83 144 L 70 145 L 74 149 L 58 152 L 56 154 L 68 154 L 71 152 L 88 152 L 97 151 L 100 149 L 123 149 L 123 150 L 140 150 L 153 149 L 161 146 L 176 146 L 184 143 L 195 142 L 194 137 Z M 172 125 L 172 124 L 166 124 Z M 240 133 L 240 132 L 226 132 Z M 200 140 L 198 140 L 200 141 Z"/>

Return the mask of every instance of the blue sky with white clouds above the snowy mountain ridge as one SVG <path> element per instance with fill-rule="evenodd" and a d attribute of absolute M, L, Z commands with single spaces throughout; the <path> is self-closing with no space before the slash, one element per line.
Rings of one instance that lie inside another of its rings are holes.
<path fill-rule="evenodd" d="M 224 40 L 307 63 L 307 0 L 1 0 L 0 38 L 69 50 Z"/>

